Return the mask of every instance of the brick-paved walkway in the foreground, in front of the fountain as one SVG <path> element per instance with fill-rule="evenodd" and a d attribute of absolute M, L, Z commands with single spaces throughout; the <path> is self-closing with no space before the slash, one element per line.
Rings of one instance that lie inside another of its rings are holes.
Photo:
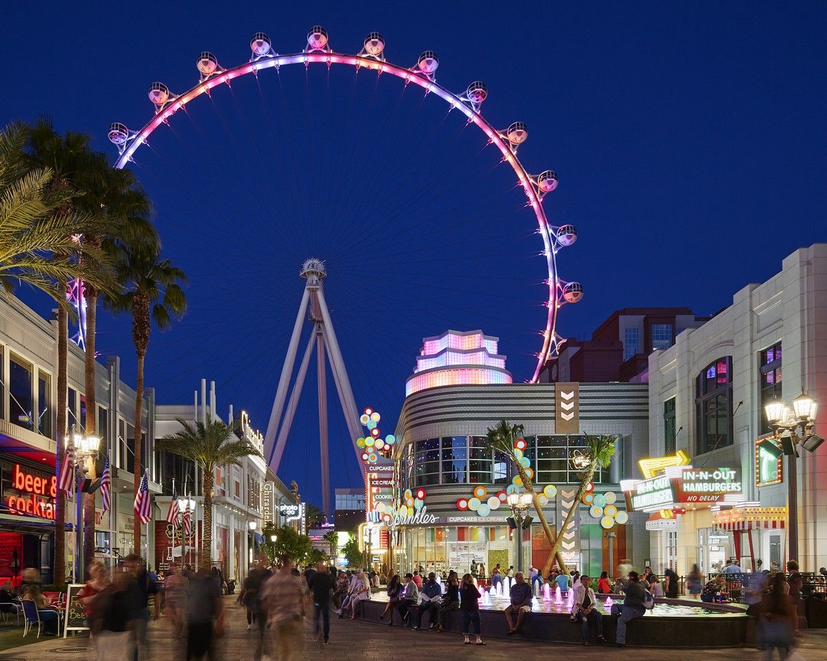
<path fill-rule="evenodd" d="M 246 630 L 244 611 L 236 606 L 235 598 L 227 596 L 227 633 L 222 639 L 221 661 L 252 661 L 254 633 Z M 164 620 L 151 623 L 151 661 L 176 661 L 180 658 L 179 641 L 170 633 Z M 463 645 L 461 635 L 418 633 L 403 630 L 398 625 L 390 628 L 359 620 L 331 621 L 330 644 L 321 647 L 313 639 L 308 623 L 304 654 L 298 659 L 331 659 L 332 661 L 514 661 L 546 659 L 581 661 L 581 659 L 612 659 L 612 661 L 754 661 L 762 659 L 755 649 L 607 649 L 594 645 L 552 645 L 529 643 L 519 639 L 486 639 L 485 648 Z M 703 641 L 698 641 L 699 645 Z M 827 630 L 805 632 L 799 649 L 805 661 L 827 661 Z M 608 654 L 607 654 L 608 653 Z M 0 661 L 88 661 L 94 651 L 86 636 L 69 639 L 48 637 L 40 642 L 7 649 L 0 653 Z M 277 661 L 273 659 L 272 661 Z M 291 660 L 292 661 L 292 660 Z"/>

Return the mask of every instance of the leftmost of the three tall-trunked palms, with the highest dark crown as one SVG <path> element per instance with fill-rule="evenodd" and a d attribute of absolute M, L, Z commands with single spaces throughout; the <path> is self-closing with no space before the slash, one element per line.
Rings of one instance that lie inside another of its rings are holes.
<path fill-rule="evenodd" d="M 32 167 L 49 167 L 55 172 L 53 184 L 62 189 L 69 185 L 74 174 L 74 165 L 88 149 L 88 137 L 83 133 L 67 132 L 65 137 L 55 132 L 49 119 L 41 117 L 30 126 L 22 127 L 26 134 L 26 160 Z M 68 258 L 68 255 L 65 256 Z M 55 299 L 57 307 L 57 421 L 56 421 L 56 466 L 63 464 L 65 457 L 64 437 L 67 432 L 66 406 L 68 396 L 69 366 L 69 310 L 62 304 L 66 300 L 66 282 L 58 280 Z M 66 580 L 66 496 L 63 491 L 55 495 L 55 584 L 63 585 Z"/>

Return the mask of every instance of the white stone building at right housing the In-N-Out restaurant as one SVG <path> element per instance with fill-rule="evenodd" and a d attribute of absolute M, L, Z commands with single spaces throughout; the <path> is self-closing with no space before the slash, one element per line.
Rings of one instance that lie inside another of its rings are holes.
<path fill-rule="evenodd" d="M 789 523 L 778 508 L 787 505 L 789 460 L 759 460 L 757 443 L 770 431 L 767 401 L 791 404 L 803 390 L 827 415 L 827 244 L 793 252 L 770 280 L 739 290 L 731 306 L 653 352 L 648 372 L 651 456 L 682 449 L 694 467 L 736 468 L 743 496 L 754 502 L 752 513 L 728 514 L 743 531 L 722 529 L 723 513 L 702 505 L 653 522 L 654 566 L 684 574 L 699 563 L 708 573 L 736 554 L 745 570 L 758 559 L 762 568 L 783 565 Z M 827 432 L 818 419 L 816 432 Z M 802 571 L 818 571 L 827 563 L 827 445 L 800 450 L 797 477 L 795 559 Z"/>

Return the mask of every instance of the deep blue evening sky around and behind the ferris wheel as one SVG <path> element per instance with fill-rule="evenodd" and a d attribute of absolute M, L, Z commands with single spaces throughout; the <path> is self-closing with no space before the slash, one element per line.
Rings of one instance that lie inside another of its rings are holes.
<path fill-rule="evenodd" d="M 485 116 L 526 122 L 521 159 L 557 170 L 547 213 L 580 231 L 561 273 L 586 289 L 562 309 L 564 336 L 625 306 L 710 314 L 827 240 L 823 2 L 446 4 L 15 3 L 0 118 L 49 114 L 114 156 L 109 123 L 140 127 L 149 84 L 189 88 L 201 50 L 236 65 L 265 31 L 295 52 L 318 22 L 334 49 L 356 52 L 378 30 L 395 63 L 436 50 L 450 89 L 484 79 Z M 458 113 L 396 79 L 323 68 L 270 70 L 190 108 L 135 165 L 190 278 L 187 318 L 151 342 L 161 403 L 192 401 L 206 376 L 225 416 L 232 402 L 264 428 L 311 254 L 328 261 L 357 404 L 386 428 L 421 338 L 445 328 L 500 336 L 515 381 L 530 376 L 542 246 L 513 177 Z M 102 315 L 98 348 L 133 381 L 126 319 Z M 314 374 L 280 474 L 318 501 Z M 332 387 L 329 399 L 332 484 L 356 486 Z"/>

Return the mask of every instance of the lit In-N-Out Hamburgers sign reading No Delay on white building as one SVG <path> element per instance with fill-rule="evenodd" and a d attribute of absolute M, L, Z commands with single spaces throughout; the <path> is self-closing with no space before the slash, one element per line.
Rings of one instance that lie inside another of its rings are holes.
<path fill-rule="evenodd" d="M 659 510 L 673 503 L 711 505 L 726 494 L 740 494 L 740 473 L 735 468 L 672 467 L 625 490 L 629 510 Z"/>

